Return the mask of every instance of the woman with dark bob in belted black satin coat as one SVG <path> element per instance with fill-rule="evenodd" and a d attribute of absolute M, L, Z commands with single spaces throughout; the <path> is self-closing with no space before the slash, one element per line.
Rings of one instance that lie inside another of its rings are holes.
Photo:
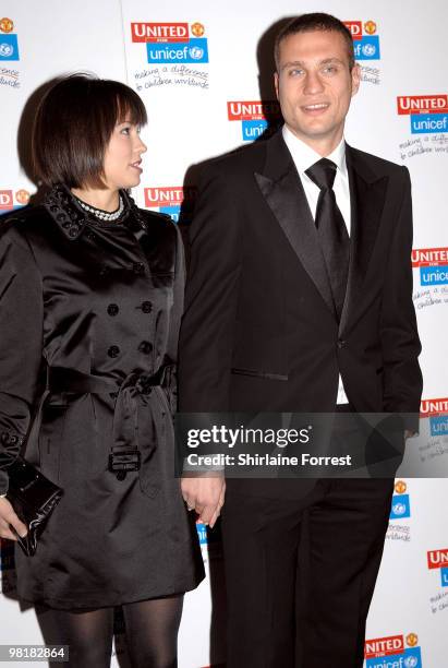
<path fill-rule="evenodd" d="M 134 666 L 175 666 L 182 594 L 204 576 L 174 478 L 172 411 L 182 244 L 126 193 L 146 146 L 128 86 L 73 75 L 34 129 L 43 205 L 0 224 L 0 493 L 25 458 L 63 489 L 20 596 L 70 666 L 109 666 L 123 606 Z M 126 463 L 126 464 L 125 464 Z M 0 499 L 0 535 L 25 527 Z"/>

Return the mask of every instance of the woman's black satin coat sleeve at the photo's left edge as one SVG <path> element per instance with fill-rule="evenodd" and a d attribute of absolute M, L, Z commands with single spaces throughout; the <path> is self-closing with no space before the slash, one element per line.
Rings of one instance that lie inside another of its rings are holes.
<path fill-rule="evenodd" d="M 43 353 L 41 278 L 27 241 L 0 238 L 0 493 L 25 440 Z"/>

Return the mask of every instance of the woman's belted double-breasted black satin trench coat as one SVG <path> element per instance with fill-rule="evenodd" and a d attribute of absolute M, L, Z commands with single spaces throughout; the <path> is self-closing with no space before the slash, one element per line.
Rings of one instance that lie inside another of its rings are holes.
<path fill-rule="evenodd" d="M 120 223 L 89 217 L 63 187 L 0 220 L 0 492 L 21 446 L 64 490 L 36 554 L 15 550 L 20 596 L 53 608 L 204 576 L 173 475 L 182 246 L 167 216 L 123 196 Z M 141 468 L 119 479 L 109 456 L 123 449 Z"/>

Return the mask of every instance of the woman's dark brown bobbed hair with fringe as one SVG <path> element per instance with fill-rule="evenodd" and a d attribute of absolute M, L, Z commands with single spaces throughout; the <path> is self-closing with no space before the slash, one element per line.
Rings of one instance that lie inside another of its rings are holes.
<path fill-rule="evenodd" d="M 129 86 L 88 74 L 59 79 L 37 109 L 32 153 L 45 184 L 105 188 L 105 152 L 117 123 L 147 122 L 146 109 Z"/>

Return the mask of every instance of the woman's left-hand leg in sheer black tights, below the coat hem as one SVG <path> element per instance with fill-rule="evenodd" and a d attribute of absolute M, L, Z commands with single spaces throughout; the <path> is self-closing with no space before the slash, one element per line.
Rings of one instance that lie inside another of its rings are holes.
<path fill-rule="evenodd" d="M 113 608 L 87 611 L 36 607 L 47 645 L 69 645 L 69 668 L 109 668 L 113 639 Z M 50 667 L 60 664 L 51 661 Z"/>

